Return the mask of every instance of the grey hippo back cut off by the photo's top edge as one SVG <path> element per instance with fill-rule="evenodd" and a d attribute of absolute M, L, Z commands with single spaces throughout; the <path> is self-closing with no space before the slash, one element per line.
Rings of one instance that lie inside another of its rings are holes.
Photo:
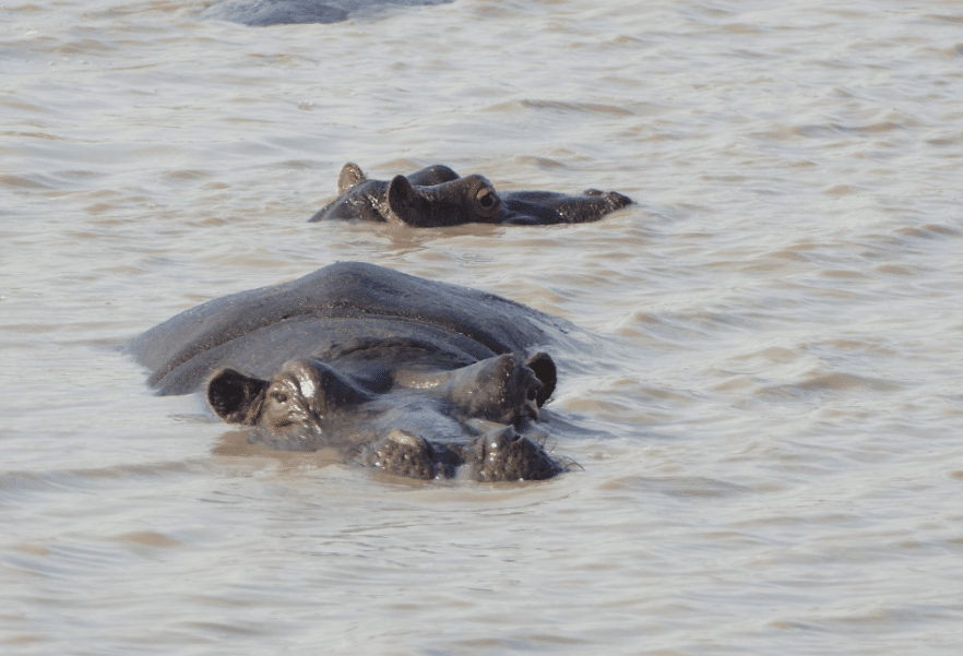
<path fill-rule="evenodd" d="M 202 19 L 266 26 L 285 23 L 336 23 L 384 7 L 445 4 L 454 0 L 222 0 L 201 12 Z"/>

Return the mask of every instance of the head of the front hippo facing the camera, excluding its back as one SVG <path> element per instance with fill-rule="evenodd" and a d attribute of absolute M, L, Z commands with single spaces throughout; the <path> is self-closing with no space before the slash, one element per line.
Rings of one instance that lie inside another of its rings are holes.
<path fill-rule="evenodd" d="M 254 427 L 269 446 L 334 448 L 400 476 L 463 468 L 482 481 L 540 480 L 562 470 L 535 429 L 556 384 L 548 355 L 504 354 L 440 372 L 374 369 L 314 358 L 288 360 L 271 380 L 222 369 L 206 397 L 221 418 Z"/>

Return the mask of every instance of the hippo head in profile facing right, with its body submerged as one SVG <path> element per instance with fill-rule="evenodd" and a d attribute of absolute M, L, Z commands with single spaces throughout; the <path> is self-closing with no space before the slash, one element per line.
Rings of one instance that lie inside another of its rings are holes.
<path fill-rule="evenodd" d="M 588 189 L 570 195 L 554 191 L 498 192 L 482 176 L 464 178 L 436 164 L 408 176 L 369 180 L 348 163 L 337 180 L 338 198 L 310 222 L 343 219 L 404 224 L 419 228 L 467 223 L 550 225 L 590 223 L 632 204 L 615 191 Z"/>

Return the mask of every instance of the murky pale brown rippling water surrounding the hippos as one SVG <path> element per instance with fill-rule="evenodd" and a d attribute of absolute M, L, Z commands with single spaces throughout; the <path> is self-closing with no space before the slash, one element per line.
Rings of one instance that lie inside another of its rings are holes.
<path fill-rule="evenodd" d="M 959 2 L 0 8 L 0 651 L 959 654 Z M 594 225 L 305 220 L 355 160 Z M 542 484 L 238 454 L 117 346 L 372 262 L 597 335 Z"/>

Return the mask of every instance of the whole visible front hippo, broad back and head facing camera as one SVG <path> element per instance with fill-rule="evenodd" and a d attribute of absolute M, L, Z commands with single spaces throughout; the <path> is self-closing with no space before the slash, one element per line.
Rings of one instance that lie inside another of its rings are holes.
<path fill-rule="evenodd" d="M 160 394 L 203 391 L 251 441 L 335 449 L 420 479 L 539 480 L 568 322 L 508 299 L 372 264 L 209 301 L 129 345 Z"/>

